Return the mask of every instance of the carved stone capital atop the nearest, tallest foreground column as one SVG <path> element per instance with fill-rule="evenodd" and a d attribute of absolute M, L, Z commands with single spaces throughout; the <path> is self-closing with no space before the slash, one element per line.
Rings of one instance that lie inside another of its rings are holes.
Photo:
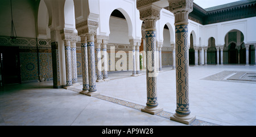
<path fill-rule="evenodd" d="M 169 10 L 174 13 L 175 24 L 187 24 L 188 14 L 193 11 L 193 0 L 168 0 Z"/>

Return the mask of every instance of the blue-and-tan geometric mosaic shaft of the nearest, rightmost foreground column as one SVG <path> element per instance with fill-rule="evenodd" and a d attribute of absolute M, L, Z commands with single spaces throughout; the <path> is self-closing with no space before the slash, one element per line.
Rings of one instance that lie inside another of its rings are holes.
<path fill-rule="evenodd" d="M 188 99 L 188 25 L 175 26 L 176 38 L 176 92 L 178 114 L 189 114 Z"/>

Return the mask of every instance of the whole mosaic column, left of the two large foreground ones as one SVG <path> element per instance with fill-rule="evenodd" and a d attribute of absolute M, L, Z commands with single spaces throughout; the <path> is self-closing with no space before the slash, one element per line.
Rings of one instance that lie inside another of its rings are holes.
<path fill-rule="evenodd" d="M 146 3 L 146 4 L 145 4 Z M 143 5 L 144 4 L 144 5 Z M 146 6 L 145 6 L 146 5 Z M 160 19 L 162 7 L 148 3 L 146 0 L 137 1 L 137 8 L 140 12 L 140 19 L 145 23 L 146 38 L 146 83 L 147 83 L 147 103 L 142 108 L 142 112 L 157 114 L 163 111 L 158 106 L 157 94 L 157 70 L 156 70 L 156 20 Z"/>

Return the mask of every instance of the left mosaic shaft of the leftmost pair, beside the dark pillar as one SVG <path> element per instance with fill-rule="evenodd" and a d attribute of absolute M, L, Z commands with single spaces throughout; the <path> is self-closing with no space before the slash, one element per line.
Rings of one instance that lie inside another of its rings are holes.
<path fill-rule="evenodd" d="M 66 65 L 66 82 L 67 86 L 72 85 L 72 64 L 71 64 L 71 42 L 64 40 L 65 43 L 65 65 Z"/>

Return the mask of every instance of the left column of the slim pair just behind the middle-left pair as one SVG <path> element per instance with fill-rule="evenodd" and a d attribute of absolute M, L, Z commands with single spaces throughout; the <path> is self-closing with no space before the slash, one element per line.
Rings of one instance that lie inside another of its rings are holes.
<path fill-rule="evenodd" d="M 96 39 L 96 44 L 95 44 L 95 50 L 96 50 L 96 72 L 97 72 L 97 80 L 96 82 L 104 82 L 102 80 L 101 76 L 101 44 L 102 44 L 102 39 L 97 38 Z"/>

